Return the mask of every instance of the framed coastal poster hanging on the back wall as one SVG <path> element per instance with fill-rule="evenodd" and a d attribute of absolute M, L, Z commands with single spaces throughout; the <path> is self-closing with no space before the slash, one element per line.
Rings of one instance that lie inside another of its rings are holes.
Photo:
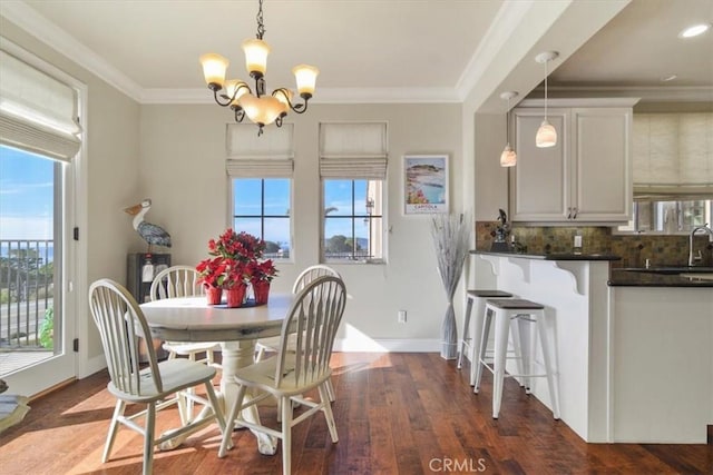
<path fill-rule="evenodd" d="M 403 157 L 404 214 L 448 212 L 448 156 Z"/>

